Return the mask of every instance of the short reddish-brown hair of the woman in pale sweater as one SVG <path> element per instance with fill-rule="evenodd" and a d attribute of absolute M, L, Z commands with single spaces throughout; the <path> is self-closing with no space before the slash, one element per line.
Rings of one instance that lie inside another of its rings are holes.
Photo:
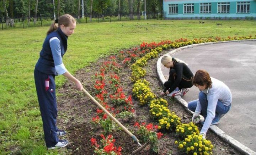
<path fill-rule="evenodd" d="M 193 85 L 206 85 L 207 88 L 212 88 L 212 80 L 206 70 L 197 70 L 194 78 Z"/>

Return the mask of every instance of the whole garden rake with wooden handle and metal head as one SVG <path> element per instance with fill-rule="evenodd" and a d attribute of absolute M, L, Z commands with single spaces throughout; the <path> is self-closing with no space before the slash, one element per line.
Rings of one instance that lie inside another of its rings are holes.
<path fill-rule="evenodd" d="M 132 153 L 135 154 L 139 151 L 141 151 L 143 148 L 145 148 L 149 143 L 145 143 L 144 145 L 139 143 L 139 140 L 137 137 L 135 137 L 134 134 L 132 134 L 126 127 L 123 126 L 114 116 L 112 116 L 98 101 L 96 101 L 84 88 L 82 88 L 82 91 L 89 96 L 89 98 L 94 101 L 94 103 L 100 107 L 101 110 L 103 110 L 114 122 L 118 124 L 119 127 L 121 127 L 137 144 L 139 144 L 139 148 L 134 150 Z"/>

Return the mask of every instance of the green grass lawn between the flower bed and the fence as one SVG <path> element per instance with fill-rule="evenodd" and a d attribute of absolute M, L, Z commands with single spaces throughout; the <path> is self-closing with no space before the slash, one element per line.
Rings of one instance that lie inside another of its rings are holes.
<path fill-rule="evenodd" d="M 77 24 L 63 58 L 74 74 L 90 62 L 143 41 L 256 35 L 255 20 L 137 20 Z M 216 23 L 222 23 L 217 26 Z M 47 27 L 0 31 L 0 154 L 46 154 L 33 70 Z M 96 66 L 97 67 L 97 66 Z M 56 77 L 57 87 L 65 82 Z M 50 154 L 57 154 L 57 150 Z"/>

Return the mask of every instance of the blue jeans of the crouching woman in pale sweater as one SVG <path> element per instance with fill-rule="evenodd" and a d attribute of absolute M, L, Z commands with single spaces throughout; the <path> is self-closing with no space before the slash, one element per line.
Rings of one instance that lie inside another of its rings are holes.
<path fill-rule="evenodd" d="M 206 97 L 206 94 L 203 92 L 200 92 L 198 95 L 198 99 L 201 105 L 201 115 L 206 119 L 207 116 L 207 106 L 208 106 L 208 100 Z M 198 100 L 193 100 L 190 103 L 188 103 L 188 109 L 195 112 L 196 106 L 197 106 Z M 216 110 L 215 110 L 215 117 L 212 122 L 219 121 L 220 116 L 226 114 L 230 110 L 231 104 L 228 106 L 225 106 L 220 100 L 217 102 Z"/>

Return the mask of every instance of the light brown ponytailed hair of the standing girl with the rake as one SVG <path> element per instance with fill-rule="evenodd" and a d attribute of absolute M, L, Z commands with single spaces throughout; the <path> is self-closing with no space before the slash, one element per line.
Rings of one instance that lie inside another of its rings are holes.
<path fill-rule="evenodd" d="M 51 32 L 55 31 L 56 29 L 58 29 L 59 25 L 64 25 L 65 27 L 68 27 L 70 25 L 70 23 L 76 23 L 76 20 L 74 17 L 72 17 L 69 14 L 65 14 L 59 17 L 59 19 L 55 21 L 53 21 L 52 25 L 50 26 L 49 30 L 47 31 L 47 35 L 50 34 Z"/>

